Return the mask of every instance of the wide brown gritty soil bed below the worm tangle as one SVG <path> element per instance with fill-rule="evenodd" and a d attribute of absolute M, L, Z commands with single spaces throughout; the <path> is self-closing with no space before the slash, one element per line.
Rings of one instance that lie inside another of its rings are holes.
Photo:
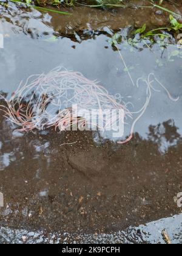
<path fill-rule="evenodd" d="M 12 136 L 1 119 L 2 225 L 107 233 L 180 213 L 181 139 L 160 154 L 139 135 L 122 147 L 96 146 L 88 133 L 64 134 L 78 143 L 61 147 L 54 131 Z"/>

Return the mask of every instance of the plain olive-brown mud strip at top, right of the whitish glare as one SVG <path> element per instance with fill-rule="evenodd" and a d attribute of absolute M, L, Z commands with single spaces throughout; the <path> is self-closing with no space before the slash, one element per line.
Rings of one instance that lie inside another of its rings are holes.
<path fill-rule="evenodd" d="M 169 23 L 169 13 L 164 12 L 158 8 L 138 8 L 138 6 L 151 6 L 149 1 L 146 0 L 134 0 L 130 1 L 133 8 L 118 8 L 109 9 L 104 12 L 103 9 L 94 9 L 88 7 L 76 7 L 66 9 L 72 13 L 71 16 L 58 22 L 57 18 L 59 15 L 55 15 L 52 20 L 52 25 L 57 32 L 66 32 L 69 30 L 102 30 L 104 27 L 110 27 L 110 29 L 118 30 L 127 26 L 141 27 L 144 23 L 149 27 L 159 27 Z M 179 3 L 178 5 L 171 4 L 165 1 L 163 7 L 170 9 L 173 12 L 182 13 L 182 7 Z M 104 12 L 104 13 L 103 13 Z"/>

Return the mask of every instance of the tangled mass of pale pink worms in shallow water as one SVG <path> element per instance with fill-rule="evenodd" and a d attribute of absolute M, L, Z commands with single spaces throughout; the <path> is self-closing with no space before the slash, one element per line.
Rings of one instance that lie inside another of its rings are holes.
<path fill-rule="evenodd" d="M 124 123 L 127 118 L 133 119 L 129 138 L 118 141 L 123 144 L 131 140 L 136 122 L 149 105 L 152 91 L 157 91 L 153 87 L 153 82 L 157 82 L 172 101 L 178 100 L 172 98 L 154 74 L 149 74 L 147 79 L 138 79 L 136 87 L 140 86 L 141 81 L 146 85 L 146 102 L 138 112 L 130 112 L 128 109 L 130 102 L 124 102 L 120 94 L 112 96 L 98 82 L 62 67 L 55 68 L 47 74 L 30 76 L 24 85 L 22 83 L 19 85 L 10 99 L 0 94 L 0 98 L 5 102 L 0 107 L 5 117 L 20 127 L 19 130 L 25 132 L 34 129 L 44 130 L 49 127 L 59 128 L 61 131 L 78 124 L 80 119 L 77 116 L 70 117 L 72 105 L 75 104 L 78 108 L 87 110 L 123 109 Z M 137 115 L 137 118 L 134 119 L 134 115 Z M 82 125 L 83 122 L 85 123 L 86 120 L 82 119 Z"/>

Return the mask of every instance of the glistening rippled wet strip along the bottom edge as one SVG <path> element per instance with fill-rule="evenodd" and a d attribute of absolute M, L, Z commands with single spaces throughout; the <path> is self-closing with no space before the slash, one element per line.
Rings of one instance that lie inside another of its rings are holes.
<path fill-rule="evenodd" d="M 46 233 L 44 231 L 28 231 L 25 229 L 10 229 L 1 227 L 0 243 L 49 243 L 49 244 L 165 244 L 162 232 L 165 229 L 170 243 L 181 244 L 181 215 L 150 222 L 145 226 L 129 227 L 127 230 L 112 234 L 82 234 L 82 233 Z"/>

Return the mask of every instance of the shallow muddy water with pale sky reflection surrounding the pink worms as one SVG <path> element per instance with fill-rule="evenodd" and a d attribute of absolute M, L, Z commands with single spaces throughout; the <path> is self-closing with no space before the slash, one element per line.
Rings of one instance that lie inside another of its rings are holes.
<path fill-rule="evenodd" d="M 131 111 L 143 106 L 146 87 L 133 87 L 109 40 L 115 29 L 124 38 L 136 24 L 146 22 L 155 27 L 159 20 L 161 25 L 166 24 L 166 13 L 155 9 L 78 8 L 70 18 L 24 10 L 15 4 L 6 10 L 0 8 L 0 29 L 4 34 L 4 49 L 0 49 L 1 93 L 8 97 L 21 80 L 61 65 L 90 80 L 99 80 L 110 94 L 120 93 L 123 101 L 132 102 Z M 180 13 L 181 7 L 170 5 L 170 9 Z M 157 19 L 151 18 L 157 15 Z M 124 146 L 116 144 L 110 134 L 105 137 L 98 132 L 13 132 L 15 127 L 1 113 L 2 243 L 18 241 L 22 232 L 32 230 L 39 234 L 34 243 L 42 236 L 39 232 L 45 232 L 45 238 L 46 233 L 48 238 L 50 233 L 68 232 L 75 234 L 73 240 L 95 232 L 115 234 L 181 213 L 174 200 L 182 192 L 182 69 L 181 59 L 175 54 L 177 45 L 170 40 L 164 50 L 158 44 L 149 49 L 141 44 L 130 46 L 123 40 L 119 48 L 135 82 L 154 73 L 172 96 L 180 99 L 170 101 L 166 91 L 154 84 L 160 92 L 153 91 L 133 140 Z M 124 137 L 131 126 L 125 126 Z M 60 146 L 65 142 L 76 144 Z M 172 230 L 179 234 L 174 243 L 180 243 L 181 215 L 175 222 L 180 229 Z M 166 228 L 170 233 L 172 225 L 169 219 L 158 230 Z M 123 234 L 127 239 L 127 232 Z M 152 235 L 147 242 L 153 242 Z"/>

